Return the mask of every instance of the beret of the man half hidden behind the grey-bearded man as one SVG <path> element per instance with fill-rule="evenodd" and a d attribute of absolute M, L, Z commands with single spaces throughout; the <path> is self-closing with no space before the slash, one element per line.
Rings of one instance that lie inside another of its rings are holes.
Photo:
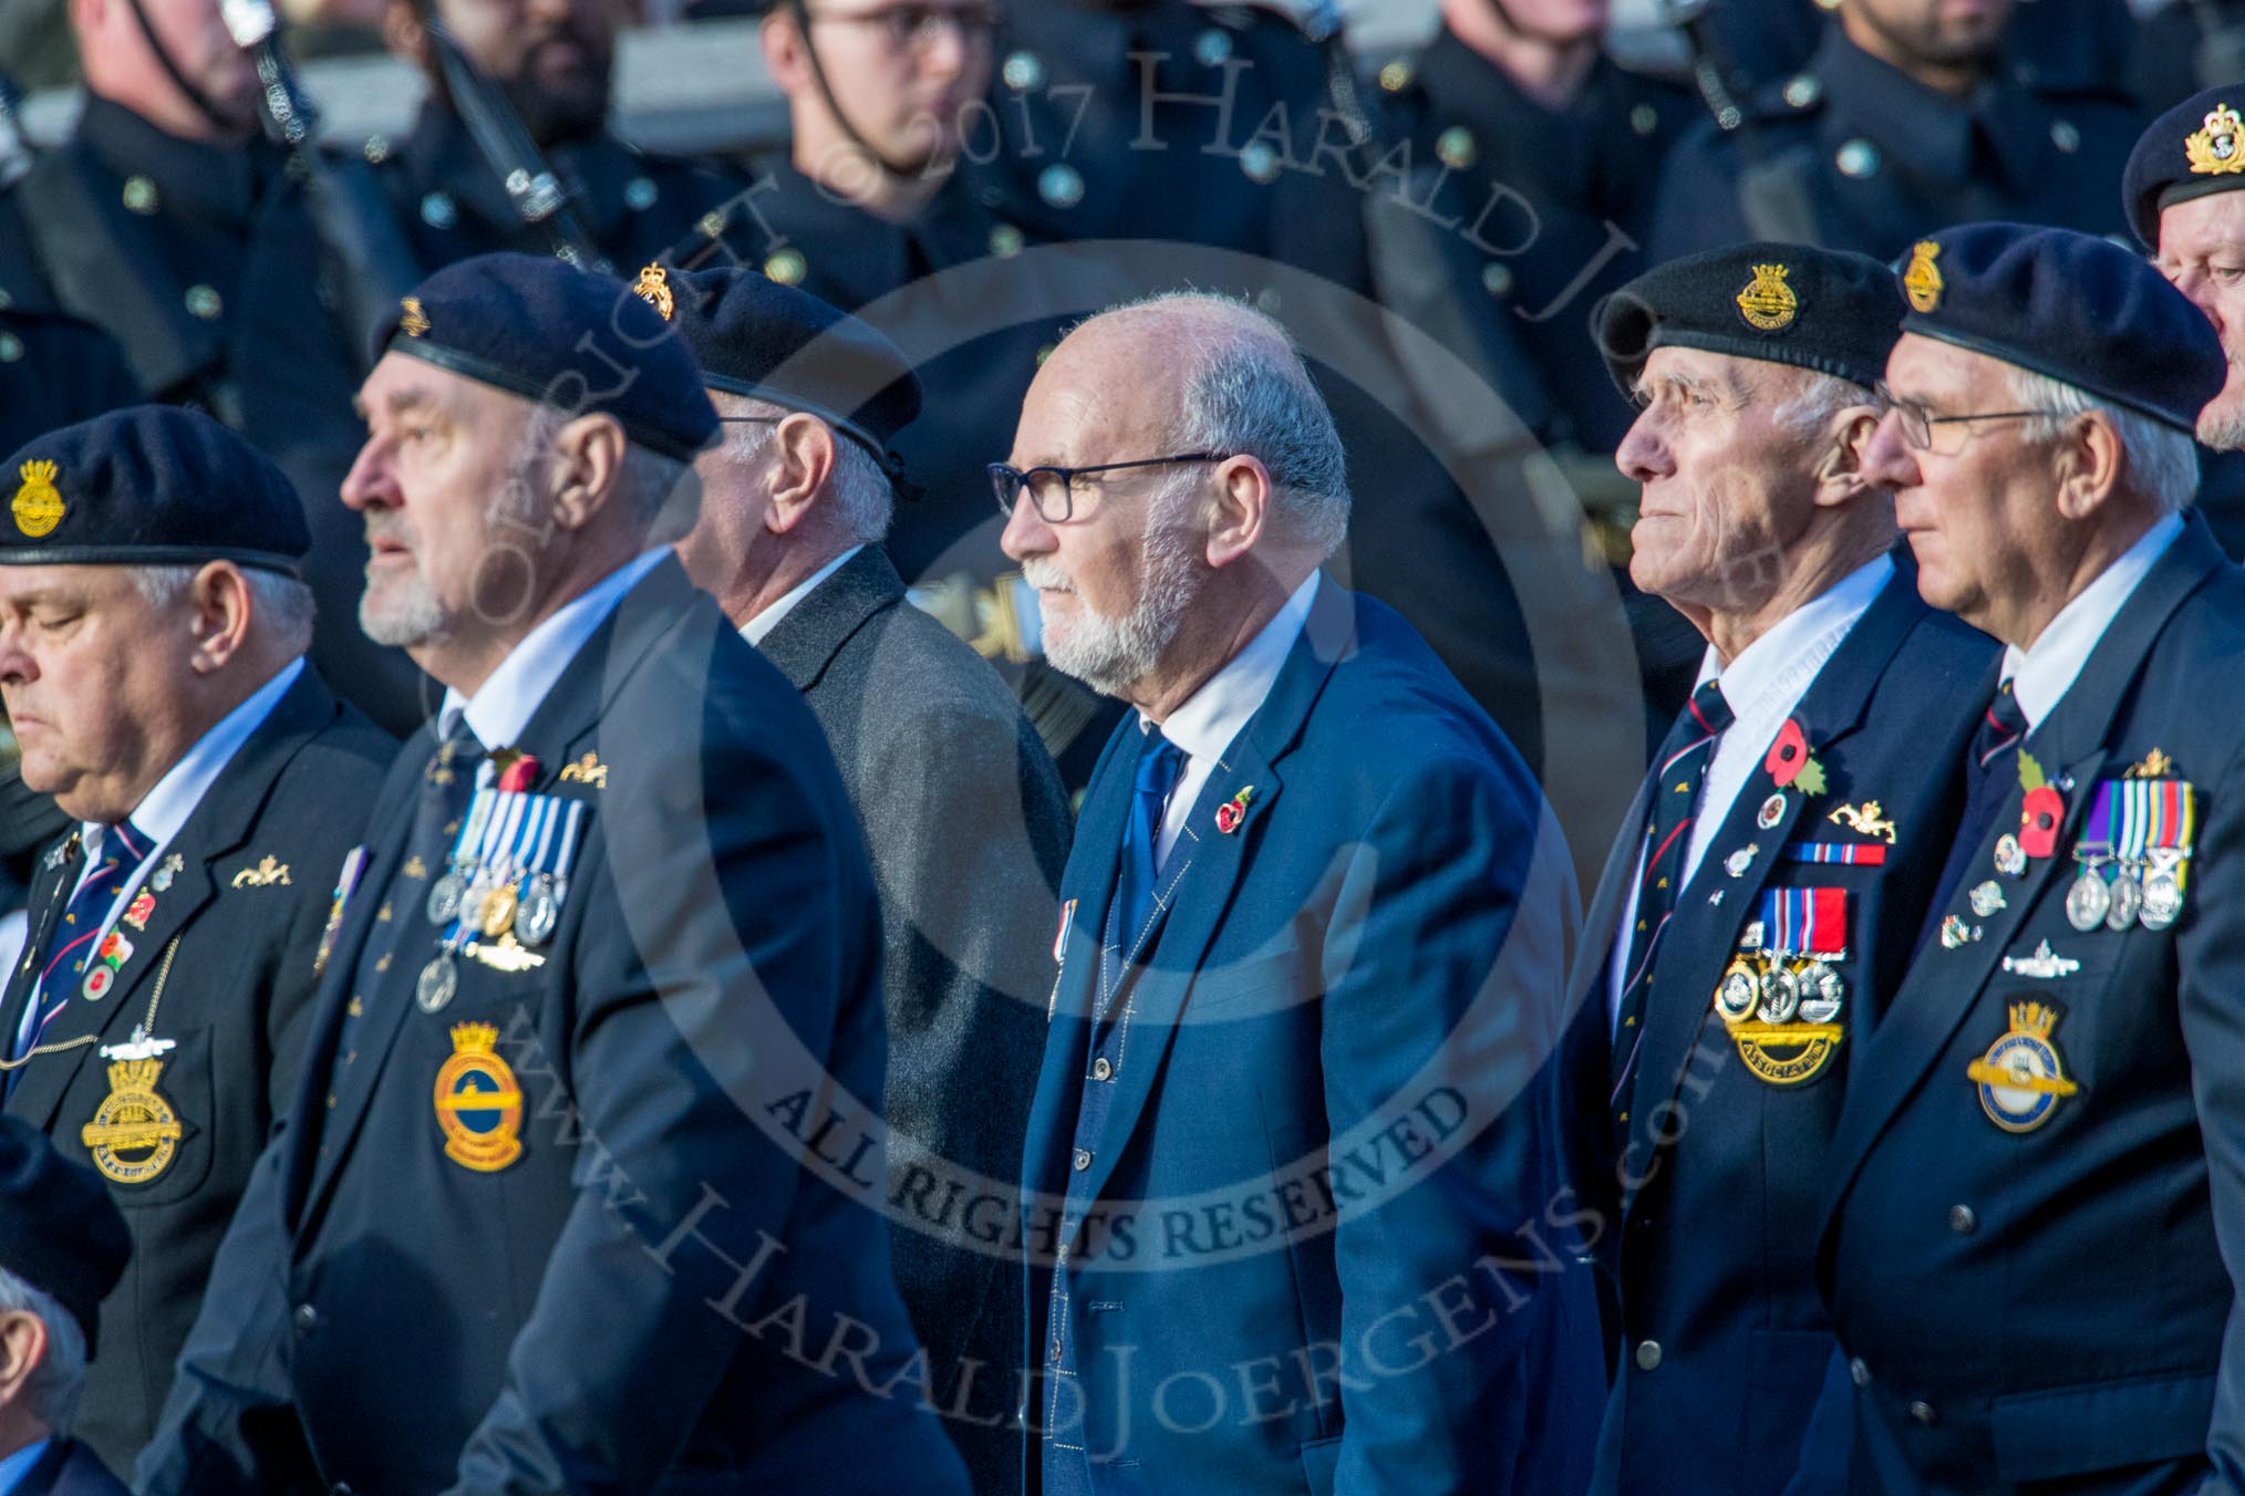
<path fill-rule="evenodd" d="M 817 415 L 896 475 L 889 444 L 920 415 L 920 379 L 880 332 L 748 269 L 649 265 L 638 292 L 671 307 L 712 390 Z"/>

